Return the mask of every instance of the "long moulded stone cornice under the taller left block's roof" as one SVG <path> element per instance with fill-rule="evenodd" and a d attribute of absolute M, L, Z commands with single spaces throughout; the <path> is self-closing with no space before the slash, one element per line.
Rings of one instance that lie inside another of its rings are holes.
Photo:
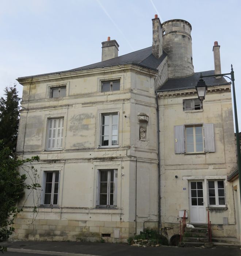
<path fill-rule="evenodd" d="M 87 76 L 94 76 L 94 75 L 107 75 L 113 73 L 120 73 L 120 72 L 136 72 L 142 75 L 154 76 L 156 77 L 158 74 L 158 70 L 149 69 L 147 67 L 143 67 L 138 64 L 124 64 L 124 65 L 117 65 L 113 67 L 103 67 L 103 68 L 93 68 L 88 70 L 80 70 L 80 71 L 66 71 L 60 73 L 53 73 L 53 74 L 46 74 L 46 75 L 39 75 L 39 76 L 28 76 L 18 78 L 18 82 L 20 84 L 27 85 L 30 83 L 45 83 L 45 82 L 59 82 L 63 80 L 69 79 L 76 79 L 81 77 Z"/>

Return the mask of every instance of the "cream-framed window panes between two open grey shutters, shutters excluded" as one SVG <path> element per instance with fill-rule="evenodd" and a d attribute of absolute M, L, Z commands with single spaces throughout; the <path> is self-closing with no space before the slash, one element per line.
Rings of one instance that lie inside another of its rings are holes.
<path fill-rule="evenodd" d="M 186 152 L 203 152 L 203 127 L 185 127 L 186 130 Z"/>

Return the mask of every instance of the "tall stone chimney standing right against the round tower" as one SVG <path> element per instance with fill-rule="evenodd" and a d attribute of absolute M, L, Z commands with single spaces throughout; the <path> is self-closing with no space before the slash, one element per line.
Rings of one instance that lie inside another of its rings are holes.
<path fill-rule="evenodd" d="M 152 54 L 157 59 L 162 55 L 162 27 L 157 14 L 152 19 Z"/>

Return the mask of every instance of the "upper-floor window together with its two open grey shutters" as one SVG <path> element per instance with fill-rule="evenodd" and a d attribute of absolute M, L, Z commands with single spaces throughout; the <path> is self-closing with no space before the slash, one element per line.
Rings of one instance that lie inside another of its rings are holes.
<path fill-rule="evenodd" d="M 175 154 L 215 152 L 214 124 L 176 125 Z"/>

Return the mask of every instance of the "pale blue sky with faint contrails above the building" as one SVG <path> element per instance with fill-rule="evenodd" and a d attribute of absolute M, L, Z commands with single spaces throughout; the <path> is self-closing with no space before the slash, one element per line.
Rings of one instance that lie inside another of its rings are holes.
<path fill-rule="evenodd" d="M 22 76 L 64 71 L 101 61 L 107 37 L 119 56 L 152 45 L 152 19 L 192 25 L 194 71 L 214 69 L 218 41 L 222 73 L 233 64 L 241 131 L 240 0 L 0 0 L 0 97 Z"/>

